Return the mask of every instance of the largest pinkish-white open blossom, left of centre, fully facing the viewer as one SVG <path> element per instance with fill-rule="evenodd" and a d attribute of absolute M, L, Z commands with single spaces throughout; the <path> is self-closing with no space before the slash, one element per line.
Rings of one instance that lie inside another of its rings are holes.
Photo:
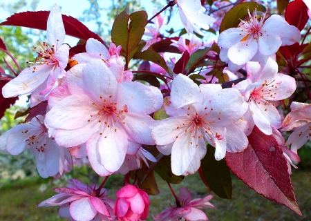
<path fill-rule="evenodd" d="M 118 83 L 100 59 L 77 64 L 66 80 L 71 95 L 53 106 L 46 125 L 59 145 L 86 142 L 96 173 L 106 176 L 120 169 L 130 142 L 155 144 L 149 128 L 154 120 L 149 114 L 162 106 L 158 88 L 131 81 Z"/>

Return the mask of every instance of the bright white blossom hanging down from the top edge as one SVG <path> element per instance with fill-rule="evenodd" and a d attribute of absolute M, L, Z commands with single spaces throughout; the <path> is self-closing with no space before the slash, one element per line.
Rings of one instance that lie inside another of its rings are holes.
<path fill-rule="evenodd" d="M 209 29 L 209 25 L 216 20 L 209 15 L 205 15 L 206 9 L 202 7 L 200 0 L 175 0 L 178 5 L 179 16 L 188 34 L 197 32 L 205 35 L 200 28 Z"/>

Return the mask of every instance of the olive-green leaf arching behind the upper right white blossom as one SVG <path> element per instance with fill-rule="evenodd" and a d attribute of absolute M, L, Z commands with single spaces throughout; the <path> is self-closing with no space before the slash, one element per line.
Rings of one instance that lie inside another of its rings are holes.
<path fill-rule="evenodd" d="M 257 7 L 258 6 L 258 7 Z M 266 12 L 266 8 L 263 5 L 260 5 L 255 2 L 245 2 L 240 3 L 231 10 L 229 10 L 226 15 L 223 17 L 223 21 L 220 24 L 219 33 L 227 30 L 228 28 L 236 28 L 238 24 L 241 22 L 240 19 L 243 19 L 247 16 L 247 7 L 249 7 L 249 11 L 252 13 L 252 10 L 257 7 L 257 11 Z"/>

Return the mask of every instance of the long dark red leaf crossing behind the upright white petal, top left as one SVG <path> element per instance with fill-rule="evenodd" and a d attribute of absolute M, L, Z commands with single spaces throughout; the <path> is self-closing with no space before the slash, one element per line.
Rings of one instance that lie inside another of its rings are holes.
<path fill-rule="evenodd" d="M 6 21 L 0 23 L 0 26 L 22 26 L 27 28 L 36 28 L 40 30 L 46 30 L 46 22 L 48 21 L 49 11 L 39 12 L 21 12 L 11 17 L 8 17 Z M 77 19 L 62 15 L 66 35 L 77 37 L 87 41 L 89 38 L 97 39 L 104 44 L 104 41 L 94 32 L 89 30 L 83 23 Z"/>

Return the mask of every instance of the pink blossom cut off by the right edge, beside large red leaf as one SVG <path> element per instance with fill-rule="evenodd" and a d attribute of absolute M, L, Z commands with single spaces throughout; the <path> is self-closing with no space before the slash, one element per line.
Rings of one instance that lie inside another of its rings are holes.
<path fill-rule="evenodd" d="M 285 117 L 281 131 L 292 131 L 285 145 L 291 144 L 291 150 L 297 150 L 311 140 L 311 104 L 292 102 L 291 112 Z"/>

